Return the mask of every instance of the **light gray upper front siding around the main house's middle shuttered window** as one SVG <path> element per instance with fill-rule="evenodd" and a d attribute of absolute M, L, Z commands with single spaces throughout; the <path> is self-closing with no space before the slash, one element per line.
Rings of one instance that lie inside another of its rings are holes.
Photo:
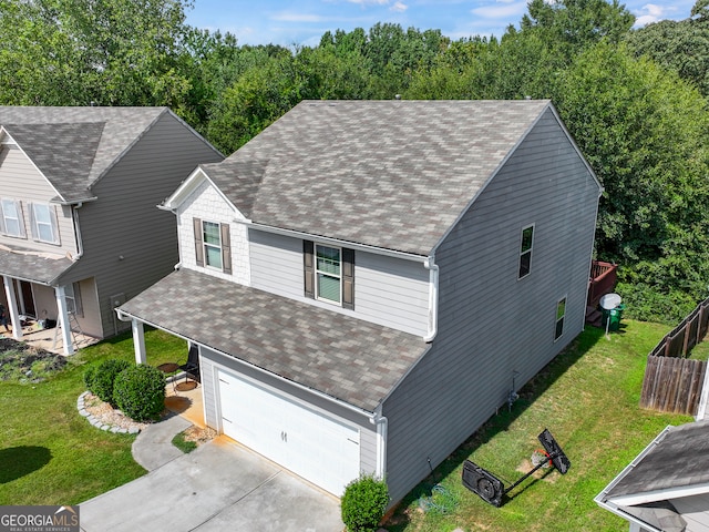
<path fill-rule="evenodd" d="M 249 241 L 254 288 L 337 308 L 305 297 L 301 239 L 249 229 Z M 428 313 L 429 273 L 421 263 L 354 252 L 354 316 L 424 336 Z"/>

